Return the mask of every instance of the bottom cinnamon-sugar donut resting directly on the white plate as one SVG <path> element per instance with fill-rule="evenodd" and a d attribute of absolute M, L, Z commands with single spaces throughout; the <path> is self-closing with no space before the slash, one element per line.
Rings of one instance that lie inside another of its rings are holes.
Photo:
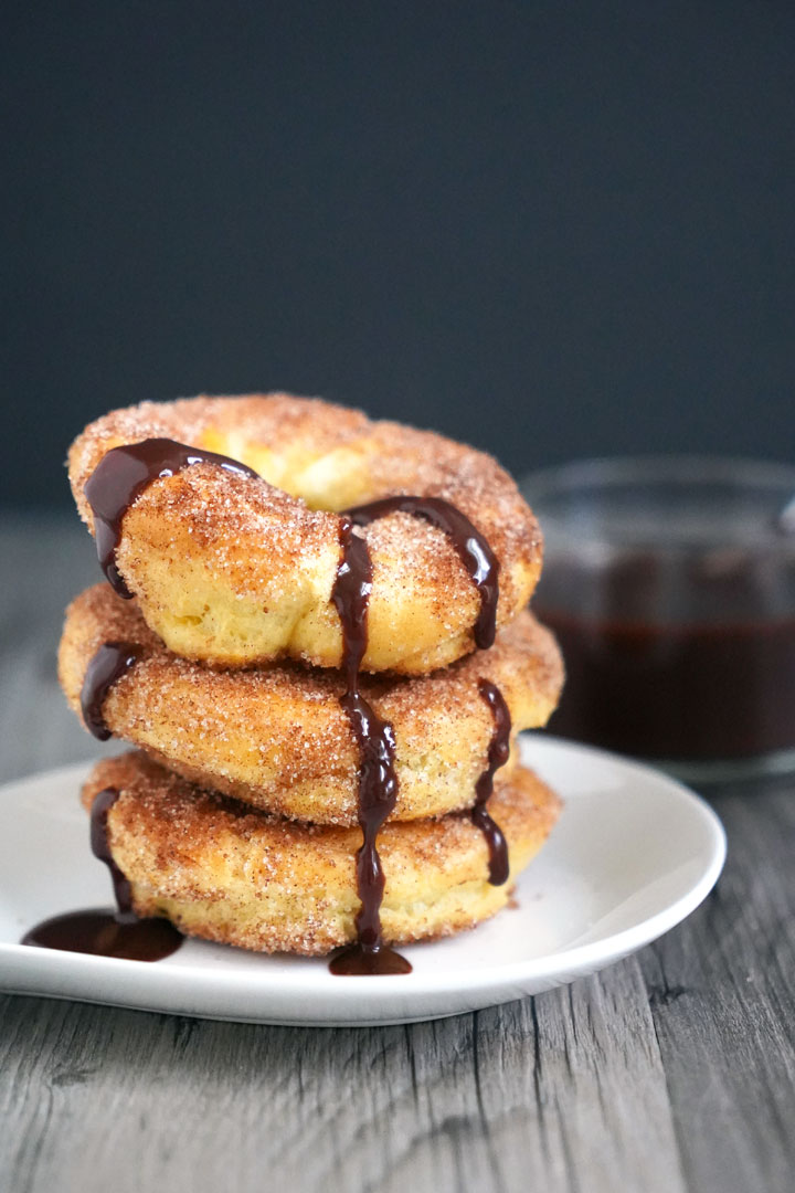
<path fill-rule="evenodd" d="M 141 753 L 99 762 L 82 790 L 87 809 L 116 789 L 106 833 L 141 916 L 164 916 L 188 935 L 259 952 L 327 953 L 355 939 L 356 829 L 319 828 L 251 811 L 201 792 Z M 557 796 L 517 767 L 490 801 L 510 849 L 510 880 L 489 882 L 483 834 L 465 815 L 390 824 L 385 941 L 447 937 L 493 915 L 546 840 Z"/>

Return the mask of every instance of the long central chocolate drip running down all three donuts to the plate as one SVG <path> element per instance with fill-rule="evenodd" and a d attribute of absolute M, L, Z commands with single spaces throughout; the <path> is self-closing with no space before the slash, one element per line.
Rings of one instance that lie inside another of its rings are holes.
<path fill-rule="evenodd" d="M 329 964 L 341 976 L 410 973 L 404 957 L 384 944 L 380 907 L 384 870 L 377 839 L 395 808 L 398 780 L 395 773 L 395 734 L 359 691 L 359 668 L 367 650 L 367 605 L 373 587 L 373 568 L 364 538 L 354 533 L 350 518 L 340 523 L 342 561 L 331 593 L 342 624 L 346 693 L 340 704 L 356 735 L 359 767 L 358 818 L 362 843 L 356 854 L 356 890 L 361 908 L 356 915 L 356 942 L 343 948 Z"/>

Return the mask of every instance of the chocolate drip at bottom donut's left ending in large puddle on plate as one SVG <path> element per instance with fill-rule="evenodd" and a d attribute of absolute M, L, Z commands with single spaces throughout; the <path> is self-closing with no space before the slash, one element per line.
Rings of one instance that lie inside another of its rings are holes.
<path fill-rule="evenodd" d="M 118 798 L 116 787 L 106 787 L 95 797 L 91 809 L 92 853 L 110 871 L 117 910 L 56 915 L 31 928 L 23 937 L 23 945 L 133 962 L 159 962 L 176 952 L 182 944 L 182 934 L 168 920 L 139 920 L 132 910 L 130 883 L 113 861 L 107 840 L 107 814 Z"/>

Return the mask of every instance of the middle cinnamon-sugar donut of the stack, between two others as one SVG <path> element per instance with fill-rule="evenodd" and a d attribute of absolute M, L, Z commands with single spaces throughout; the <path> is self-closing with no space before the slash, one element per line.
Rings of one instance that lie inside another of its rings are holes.
<path fill-rule="evenodd" d="M 75 712 L 82 692 L 88 709 L 97 704 L 86 674 L 107 643 L 136 655 L 94 712 L 111 733 L 200 786 L 266 811 L 356 823 L 360 749 L 340 705 L 341 676 L 296 663 L 221 672 L 188 662 L 149 630 L 135 601 L 97 585 L 69 606 L 58 654 Z M 364 696 L 395 733 L 399 793 L 392 818 L 471 806 L 493 733 L 482 679 L 502 692 L 516 731 L 546 723 L 561 673 L 552 635 L 522 612 L 491 650 L 443 672 L 362 680 Z"/>

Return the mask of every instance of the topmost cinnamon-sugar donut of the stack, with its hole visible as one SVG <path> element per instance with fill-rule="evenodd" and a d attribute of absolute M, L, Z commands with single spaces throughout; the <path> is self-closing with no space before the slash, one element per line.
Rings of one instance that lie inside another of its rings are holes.
<path fill-rule="evenodd" d="M 178 459 L 186 444 L 195 451 Z M 114 410 L 75 440 L 69 477 L 108 577 L 172 650 L 219 666 L 341 666 L 334 591 L 350 507 L 404 499 L 352 513 L 372 561 L 365 670 L 426 674 L 489 645 L 490 619 L 507 625 L 541 568 L 536 521 L 490 456 L 319 400 Z"/>

